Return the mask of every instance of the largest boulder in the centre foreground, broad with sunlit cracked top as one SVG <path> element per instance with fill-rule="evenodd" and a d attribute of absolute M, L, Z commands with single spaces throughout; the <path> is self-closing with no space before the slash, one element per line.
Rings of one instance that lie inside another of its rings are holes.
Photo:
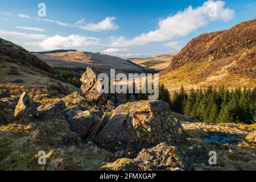
<path fill-rule="evenodd" d="M 163 101 L 129 102 L 117 107 L 94 142 L 109 151 L 132 148 L 140 151 L 180 138 L 181 125 Z"/>

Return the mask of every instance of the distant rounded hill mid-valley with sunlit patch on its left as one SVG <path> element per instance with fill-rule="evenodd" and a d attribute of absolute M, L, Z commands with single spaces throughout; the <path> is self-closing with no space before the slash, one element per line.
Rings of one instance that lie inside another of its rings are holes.
<path fill-rule="evenodd" d="M 45 61 L 51 67 L 72 68 L 78 72 L 84 72 L 86 67 L 93 66 L 99 71 L 110 74 L 110 69 L 115 68 L 116 73 L 151 73 L 154 70 L 131 63 L 119 57 L 102 55 L 100 53 L 68 51 L 57 53 L 35 53 L 37 57 Z"/>

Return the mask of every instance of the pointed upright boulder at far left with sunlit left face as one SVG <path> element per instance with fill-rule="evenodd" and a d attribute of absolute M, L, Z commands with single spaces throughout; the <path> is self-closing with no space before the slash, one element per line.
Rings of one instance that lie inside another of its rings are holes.
<path fill-rule="evenodd" d="M 15 107 L 15 120 L 24 119 L 30 120 L 36 115 L 36 104 L 28 96 L 27 92 L 23 92 L 19 98 L 19 102 Z"/>

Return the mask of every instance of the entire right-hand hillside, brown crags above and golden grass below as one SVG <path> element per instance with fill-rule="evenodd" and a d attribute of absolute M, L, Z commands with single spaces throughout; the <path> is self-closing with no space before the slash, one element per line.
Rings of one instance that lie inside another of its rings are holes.
<path fill-rule="evenodd" d="M 170 90 L 192 86 L 256 85 L 256 19 L 229 30 L 202 34 L 173 57 L 161 73 Z"/>

